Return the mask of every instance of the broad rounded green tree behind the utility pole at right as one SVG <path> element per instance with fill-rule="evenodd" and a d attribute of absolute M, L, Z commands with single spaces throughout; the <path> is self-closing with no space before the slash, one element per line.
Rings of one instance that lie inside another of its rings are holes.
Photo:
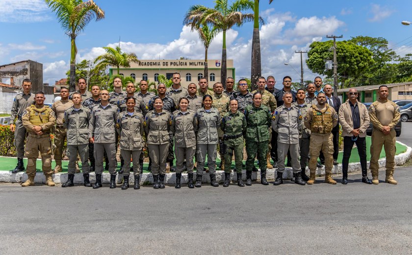
<path fill-rule="evenodd" d="M 325 70 L 325 60 L 333 59 L 333 41 L 313 42 L 309 48 L 306 63 L 311 72 L 332 77 L 333 70 Z M 336 42 L 336 59 L 338 81 L 345 86 L 361 85 L 357 78 L 374 63 L 371 51 L 349 41 Z"/>

